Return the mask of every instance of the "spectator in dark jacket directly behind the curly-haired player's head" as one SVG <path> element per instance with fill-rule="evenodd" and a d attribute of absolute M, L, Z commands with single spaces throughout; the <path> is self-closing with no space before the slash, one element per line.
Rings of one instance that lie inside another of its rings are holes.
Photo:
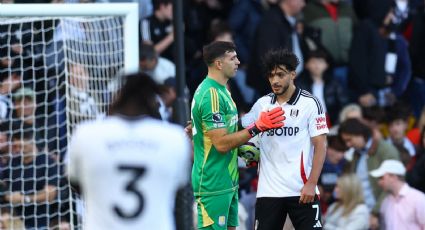
<path fill-rule="evenodd" d="M 247 70 L 247 83 L 257 90 L 259 95 L 270 92 L 270 86 L 264 80 L 265 71 L 261 65 L 261 57 L 271 49 L 287 48 L 300 60 L 297 74 L 304 66 L 302 50 L 306 45 L 302 43 L 297 33 L 297 19 L 304 0 L 279 0 L 276 5 L 270 7 L 260 20 L 252 45 L 251 60 Z"/>

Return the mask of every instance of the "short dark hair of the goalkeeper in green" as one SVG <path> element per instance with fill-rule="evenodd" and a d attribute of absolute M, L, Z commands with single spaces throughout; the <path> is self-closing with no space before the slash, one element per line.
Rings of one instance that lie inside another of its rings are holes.
<path fill-rule="evenodd" d="M 233 52 L 236 46 L 233 42 L 214 41 L 204 46 L 202 53 L 205 64 L 210 66 L 215 59 L 224 56 L 227 52 Z"/>

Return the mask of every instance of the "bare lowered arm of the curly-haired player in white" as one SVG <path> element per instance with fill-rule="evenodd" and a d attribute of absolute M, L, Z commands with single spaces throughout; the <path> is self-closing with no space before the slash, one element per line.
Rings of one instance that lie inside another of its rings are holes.
<path fill-rule="evenodd" d="M 313 165 L 310 176 L 301 191 L 301 203 L 310 203 L 314 201 L 316 185 L 326 158 L 326 134 L 312 137 L 311 142 L 314 146 Z"/>

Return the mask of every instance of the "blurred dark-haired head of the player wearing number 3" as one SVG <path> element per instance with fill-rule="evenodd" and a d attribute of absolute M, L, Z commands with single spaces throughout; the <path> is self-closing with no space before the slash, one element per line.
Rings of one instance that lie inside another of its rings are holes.
<path fill-rule="evenodd" d="M 155 81 L 145 73 L 124 76 L 124 84 L 112 103 L 109 114 L 125 116 L 148 115 L 160 119 L 158 95 Z"/>

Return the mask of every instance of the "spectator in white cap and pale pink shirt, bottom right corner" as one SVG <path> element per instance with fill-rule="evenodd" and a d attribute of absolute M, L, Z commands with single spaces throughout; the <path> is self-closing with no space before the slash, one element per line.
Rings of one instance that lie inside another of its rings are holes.
<path fill-rule="evenodd" d="M 405 167 L 397 160 L 385 160 L 370 172 L 389 193 L 380 209 L 384 228 L 388 230 L 425 228 L 425 194 L 404 181 L 405 173 Z"/>

